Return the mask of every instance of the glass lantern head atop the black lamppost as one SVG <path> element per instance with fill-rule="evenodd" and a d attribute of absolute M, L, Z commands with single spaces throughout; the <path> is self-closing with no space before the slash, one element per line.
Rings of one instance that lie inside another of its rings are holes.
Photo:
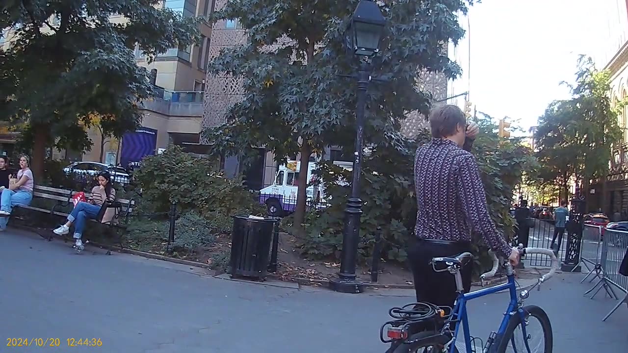
<path fill-rule="evenodd" d="M 379 52 L 379 40 L 386 26 L 377 3 L 360 0 L 345 31 L 346 45 L 355 55 L 371 57 Z"/>

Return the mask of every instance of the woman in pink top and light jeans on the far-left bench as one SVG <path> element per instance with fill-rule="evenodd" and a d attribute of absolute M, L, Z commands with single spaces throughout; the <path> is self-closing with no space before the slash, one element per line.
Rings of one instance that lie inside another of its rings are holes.
<path fill-rule="evenodd" d="M 8 215 L 16 205 L 26 206 L 33 200 L 33 171 L 28 168 L 28 156 L 19 157 L 18 182 L 9 185 L 8 188 L 2 188 L 2 196 L 0 197 L 0 231 L 6 229 Z"/>

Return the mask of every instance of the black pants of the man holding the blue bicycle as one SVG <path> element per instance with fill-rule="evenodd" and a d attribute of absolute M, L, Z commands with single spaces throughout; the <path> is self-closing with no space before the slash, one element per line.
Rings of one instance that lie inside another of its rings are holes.
<path fill-rule="evenodd" d="M 430 261 L 440 256 L 456 256 L 465 251 L 470 251 L 470 244 L 464 242 L 450 242 L 441 244 L 429 241 L 418 241 L 410 247 L 408 259 L 414 275 L 414 290 L 416 301 L 426 301 L 435 305 L 452 307 L 458 293 L 456 293 L 456 280 L 448 271 L 435 272 Z M 464 266 L 462 274 L 462 286 L 465 293 L 471 290 L 471 276 L 473 274 L 472 263 Z"/>

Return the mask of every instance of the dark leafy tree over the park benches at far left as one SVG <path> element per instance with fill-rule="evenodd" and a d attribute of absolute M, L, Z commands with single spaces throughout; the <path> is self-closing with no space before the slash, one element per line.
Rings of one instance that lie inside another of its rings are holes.
<path fill-rule="evenodd" d="M 43 170 L 45 148 L 78 151 L 91 141 L 83 126 L 122 136 L 141 121 L 139 105 L 153 93 L 136 45 L 153 60 L 168 48 L 188 46 L 196 19 L 160 9 L 160 0 L 6 0 L 0 28 L 14 30 L 0 52 L 0 114 L 23 122 L 33 169 Z M 110 21 L 120 15 L 124 21 Z"/>

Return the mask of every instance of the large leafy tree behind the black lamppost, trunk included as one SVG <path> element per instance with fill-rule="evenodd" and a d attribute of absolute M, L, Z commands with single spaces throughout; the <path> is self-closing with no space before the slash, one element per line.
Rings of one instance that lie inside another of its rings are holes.
<path fill-rule="evenodd" d="M 344 28 L 357 0 L 232 0 L 213 20 L 237 19 L 246 43 L 223 50 L 209 65 L 215 75 L 244 79 L 244 100 L 231 107 L 227 122 L 206 131 L 212 153 L 241 156 L 265 146 L 283 162 L 300 154 L 295 224 L 305 214 L 311 154 L 325 146 L 352 146 L 355 136 L 354 80 L 359 58 L 344 48 Z M 387 19 L 374 74 L 390 79 L 369 88 L 365 142 L 393 141 L 411 111 L 426 112 L 430 94 L 416 87 L 421 70 L 457 77 L 447 44 L 464 35 L 458 25 L 472 1 L 407 0 L 380 3 Z M 392 143 L 392 142 L 391 142 Z M 245 162 L 246 163 L 246 162 Z"/>

